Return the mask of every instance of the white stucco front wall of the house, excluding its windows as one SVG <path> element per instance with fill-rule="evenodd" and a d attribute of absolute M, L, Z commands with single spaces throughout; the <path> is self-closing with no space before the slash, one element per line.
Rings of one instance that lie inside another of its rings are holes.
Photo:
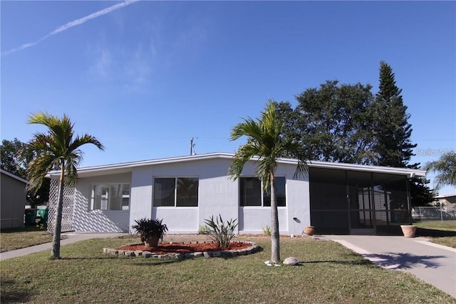
<path fill-rule="evenodd" d="M 239 206 L 239 180 L 227 175 L 231 159 L 197 159 L 134 167 L 130 173 L 100 175 L 80 179 L 76 189 L 75 229 L 77 231 L 130 231 L 135 220 L 162 219 L 171 234 L 196 233 L 205 219 L 222 216 L 224 221 L 238 219 L 236 233 L 261 234 L 271 226 L 271 209 Z M 246 164 L 243 177 L 255 176 L 256 164 Z M 279 207 L 281 234 L 301 234 L 310 224 L 309 178 L 294 180 L 296 164 L 279 164 L 277 177 L 286 177 L 286 206 Z M 153 206 L 153 184 L 157 177 L 197 177 L 197 207 Z M 130 183 L 128 211 L 89 210 L 90 185 L 94 183 Z"/>

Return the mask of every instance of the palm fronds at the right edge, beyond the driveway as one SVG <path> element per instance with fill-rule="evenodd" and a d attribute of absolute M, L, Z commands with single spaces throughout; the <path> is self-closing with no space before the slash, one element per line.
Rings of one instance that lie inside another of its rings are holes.
<path fill-rule="evenodd" d="M 440 189 L 444 185 L 456 186 L 456 152 L 443 154 L 440 159 L 428 162 L 425 165 L 427 172 L 435 171 L 435 188 Z"/>

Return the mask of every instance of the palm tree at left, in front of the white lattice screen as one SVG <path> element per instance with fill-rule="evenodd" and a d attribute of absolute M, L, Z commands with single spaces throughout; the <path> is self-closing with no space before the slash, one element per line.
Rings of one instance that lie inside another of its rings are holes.
<path fill-rule="evenodd" d="M 79 147 L 85 144 L 93 144 L 100 150 L 105 148 L 95 137 L 88 134 L 73 138 L 73 124 L 67 115 L 59 118 L 47 113 L 36 112 L 28 117 L 28 123 L 48 127 L 48 132 L 37 132 L 33 135 L 31 141 L 28 142 L 28 147 L 36 153 L 36 156 L 28 163 L 27 167 L 29 191 L 31 193 L 36 192 L 43 184 L 46 174 L 51 170 L 61 170 L 58 184 L 56 222 L 54 224 L 51 249 L 51 258 L 60 258 L 65 179 L 76 180 L 78 177 L 77 167 L 83 159 L 83 152 L 79 150 Z"/>

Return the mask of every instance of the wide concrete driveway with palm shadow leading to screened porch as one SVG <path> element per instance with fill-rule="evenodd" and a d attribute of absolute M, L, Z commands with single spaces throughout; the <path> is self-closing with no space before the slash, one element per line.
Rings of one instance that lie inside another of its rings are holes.
<path fill-rule="evenodd" d="M 424 238 L 403 236 L 322 236 L 331 239 L 378 266 L 413 273 L 456 298 L 456 249 Z"/>

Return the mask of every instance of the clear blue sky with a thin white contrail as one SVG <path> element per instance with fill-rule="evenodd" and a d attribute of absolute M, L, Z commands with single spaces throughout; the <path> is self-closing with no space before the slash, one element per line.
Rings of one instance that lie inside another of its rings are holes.
<path fill-rule="evenodd" d="M 241 117 L 386 61 L 425 163 L 456 150 L 455 1 L 1 1 L 1 139 L 68 114 L 83 166 L 234 152 Z M 456 193 L 446 187 L 440 193 Z"/>

